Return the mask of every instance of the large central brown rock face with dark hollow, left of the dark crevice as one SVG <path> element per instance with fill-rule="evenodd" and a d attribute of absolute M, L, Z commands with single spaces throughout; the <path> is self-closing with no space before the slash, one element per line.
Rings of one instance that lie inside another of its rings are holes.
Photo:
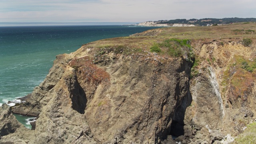
<path fill-rule="evenodd" d="M 180 119 L 175 113 L 180 108 L 184 113 L 184 101 L 191 102 L 191 62 L 150 52 L 130 56 L 109 52 L 94 63 L 95 53 L 90 45 L 85 45 L 77 52 L 58 56 L 31 98 L 13 108 L 15 113 L 39 116 L 32 130 L 33 138 L 24 136 L 21 140 L 92 144 L 174 142 L 168 135 L 172 121 Z"/>

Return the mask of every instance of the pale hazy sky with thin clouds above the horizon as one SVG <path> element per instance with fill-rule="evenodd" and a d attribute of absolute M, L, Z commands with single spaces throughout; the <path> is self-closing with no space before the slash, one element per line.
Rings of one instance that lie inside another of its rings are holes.
<path fill-rule="evenodd" d="M 255 18 L 256 0 L 0 0 L 0 22 Z"/>

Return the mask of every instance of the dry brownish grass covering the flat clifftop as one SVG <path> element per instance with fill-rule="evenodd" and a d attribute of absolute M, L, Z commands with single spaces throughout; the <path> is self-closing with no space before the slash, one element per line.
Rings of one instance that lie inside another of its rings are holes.
<path fill-rule="evenodd" d="M 234 31 L 243 30 L 245 33 L 235 34 Z M 135 54 L 136 52 L 150 51 L 150 48 L 155 43 L 162 43 L 164 40 L 177 38 L 177 39 L 189 39 L 189 40 L 212 40 L 220 38 L 256 38 L 256 24 L 228 24 L 222 26 L 196 26 L 196 27 L 166 27 L 159 30 L 159 34 L 152 36 L 144 36 L 146 32 L 151 34 L 152 30 L 143 32 L 141 35 L 130 37 L 118 37 L 109 38 L 104 40 L 98 40 L 86 44 L 85 48 L 93 48 L 95 54 L 100 54 L 104 48 L 106 52 L 108 50 L 115 51 L 122 50 L 122 54 Z M 222 42 L 222 45 L 224 43 Z"/>

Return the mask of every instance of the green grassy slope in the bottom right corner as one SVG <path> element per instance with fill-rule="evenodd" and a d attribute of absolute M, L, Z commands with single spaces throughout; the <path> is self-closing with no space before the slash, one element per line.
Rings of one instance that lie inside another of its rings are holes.
<path fill-rule="evenodd" d="M 255 144 L 256 142 L 256 122 L 248 124 L 243 134 L 240 134 L 234 144 Z"/>

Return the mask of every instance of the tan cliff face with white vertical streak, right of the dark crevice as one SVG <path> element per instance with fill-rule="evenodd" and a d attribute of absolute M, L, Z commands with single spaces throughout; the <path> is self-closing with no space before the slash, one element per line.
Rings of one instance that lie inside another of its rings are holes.
<path fill-rule="evenodd" d="M 254 47 L 239 39 L 206 40 L 194 44 L 194 52 L 200 64 L 190 80 L 193 100 L 184 118 L 185 143 L 232 142 L 254 122 L 255 77 L 243 67 L 255 58 Z"/>

